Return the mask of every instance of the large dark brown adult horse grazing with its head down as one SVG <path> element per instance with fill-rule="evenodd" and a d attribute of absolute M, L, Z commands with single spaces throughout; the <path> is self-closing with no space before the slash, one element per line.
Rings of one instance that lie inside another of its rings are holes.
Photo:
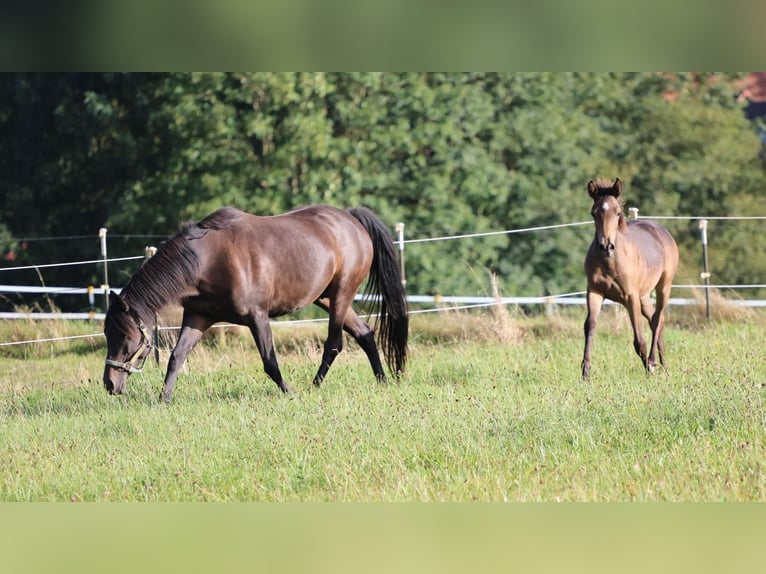
<path fill-rule="evenodd" d="M 282 391 L 292 392 L 277 364 L 269 318 L 311 303 L 330 316 L 314 384 L 321 384 L 341 351 L 343 330 L 383 380 L 374 331 L 351 308 L 368 275 L 366 294 L 378 314 L 378 340 L 398 376 L 407 360 L 407 302 L 391 234 L 369 209 L 312 206 L 271 217 L 220 209 L 185 225 L 120 295 L 110 294 L 104 386 L 121 394 L 128 375 L 143 368 L 155 314 L 169 303 L 180 303 L 184 313 L 160 395 L 167 402 L 187 355 L 219 321 L 249 327 L 266 373 Z"/>

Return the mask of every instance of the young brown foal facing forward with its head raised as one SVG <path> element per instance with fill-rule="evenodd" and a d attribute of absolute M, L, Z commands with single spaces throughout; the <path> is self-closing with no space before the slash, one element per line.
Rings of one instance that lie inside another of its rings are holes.
<path fill-rule="evenodd" d="M 619 178 L 613 183 L 588 182 L 596 237 L 585 257 L 588 317 L 584 326 L 583 378 L 590 373 L 590 348 L 604 298 L 621 303 L 628 310 L 633 325 L 633 347 L 647 371 L 653 372 L 657 367 L 657 353 L 660 363 L 665 364 L 664 311 L 678 268 L 678 246 L 670 232 L 659 223 L 646 219 L 626 221 L 621 193 Z M 656 309 L 650 298 L 652 290 L 657 300 Z M 646 317 L 652 330 L 648 355 L 639 315 Z"/>

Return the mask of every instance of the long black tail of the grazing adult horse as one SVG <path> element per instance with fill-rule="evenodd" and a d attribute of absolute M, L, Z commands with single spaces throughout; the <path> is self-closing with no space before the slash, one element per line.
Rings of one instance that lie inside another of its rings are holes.
<path fill-rule="evenodd" d="M 399 375 L 404 372 L 407 362 L 409 316 L 394 239 L 385 224 L 369 209 L 354 207 L 348 212 L 359 220 L 372 239 L 372 266 L 364 295 L 365 298 L 373 295 L 370 304 L 372 312 L 377 314 L 378 343 L 383 348 L 388 368 L 394 375 Z"/>

